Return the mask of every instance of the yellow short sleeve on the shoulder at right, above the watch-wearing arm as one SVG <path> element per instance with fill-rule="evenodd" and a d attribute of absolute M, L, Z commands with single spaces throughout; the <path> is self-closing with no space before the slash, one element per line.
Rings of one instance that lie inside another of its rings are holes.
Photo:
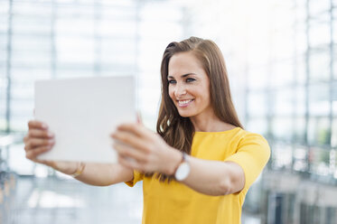
<path fill-rule="evenodd" d="M 230 155 L 225 162 L 238 163 L 245 173 L 245 187 L 248 189 L 257 180 L 270 157 L 267 140 L 257 134 L 249 133 L 239 142 L 236 154 Z"/>

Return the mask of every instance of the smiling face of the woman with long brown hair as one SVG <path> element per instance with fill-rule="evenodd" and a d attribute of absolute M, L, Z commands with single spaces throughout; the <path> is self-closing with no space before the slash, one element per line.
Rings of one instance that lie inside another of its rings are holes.
<path fill-rule="evenodd" d="M 169 95 L 182 117 L 211 115 L 210 80 L 191 51 L 172 56 L 168 65 Z"/>

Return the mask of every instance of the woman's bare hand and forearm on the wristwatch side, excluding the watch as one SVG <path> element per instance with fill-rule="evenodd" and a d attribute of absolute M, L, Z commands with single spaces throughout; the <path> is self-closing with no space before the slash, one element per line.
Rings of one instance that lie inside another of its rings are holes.
<path fill-rule="evenodd" d="M 119 163 L 130 169 L 172 175 L 182 161 L 181 152 L 139 124 L 119 126 L 112 136 L 117 140 L 115 148 Z M 183 183 L 195 191 L 224 195 L 241 191 L 245 185 L 245 174 L 237 163 L 201 160 L 192 156 L 189 156 L 189 163 L 191 173 Z"/>

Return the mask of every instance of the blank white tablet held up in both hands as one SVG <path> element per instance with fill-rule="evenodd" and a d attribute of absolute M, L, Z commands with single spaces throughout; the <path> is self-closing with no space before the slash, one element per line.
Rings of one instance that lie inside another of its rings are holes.
<path fill-rule="evenodd" d="M 35 119 L 55 135 L 54 147 L 39 159 L 117 163 L 109 135 L 118 124 L 136 122 L 135 78 L 36 81 Z"/>

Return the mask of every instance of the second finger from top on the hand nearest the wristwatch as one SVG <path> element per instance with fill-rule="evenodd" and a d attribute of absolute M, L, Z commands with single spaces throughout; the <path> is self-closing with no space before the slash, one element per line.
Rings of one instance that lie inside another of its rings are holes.
<path fill-rule="evenodd" d="M 111 137 L 116 139 L 119 143 L 130 145 L 144 151 L 145 153 L 149 152 L 146 147 L 145 141 L 137 135 L 132 135 L 125 131 L 117 131 L 116 133 L 112 134 Z"/>

